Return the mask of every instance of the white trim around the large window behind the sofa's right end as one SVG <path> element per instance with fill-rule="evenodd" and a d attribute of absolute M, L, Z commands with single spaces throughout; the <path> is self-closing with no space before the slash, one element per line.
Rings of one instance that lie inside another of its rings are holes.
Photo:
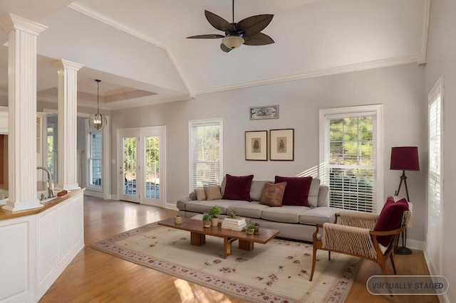
<path fill-rule="evenodd" d="M 328 141 L 328 134 L 326 133 L 326 124 L 328 123 L 327 117 L 336 118 L 340 117 L 358 117 L 359 115 L 366 114 L 368 112 L 376 115 L 376 145 L 377 152 L 375 154 L 377 158 L 377 201 L 376 201 L 376 213 L 380 213 L 383 208 L 383 105 L 359 105 L 352 107 L 333 107 L 328 109 L 321 109 L 319 111 L 319 165 L 318 165 L 318 177 L 322 184 L 326 178 L 324 176 L 325 170 L 325 159 L 326 159 L 326 142 Z M 329 196 L 328 196 L 329 197 Z"/>

